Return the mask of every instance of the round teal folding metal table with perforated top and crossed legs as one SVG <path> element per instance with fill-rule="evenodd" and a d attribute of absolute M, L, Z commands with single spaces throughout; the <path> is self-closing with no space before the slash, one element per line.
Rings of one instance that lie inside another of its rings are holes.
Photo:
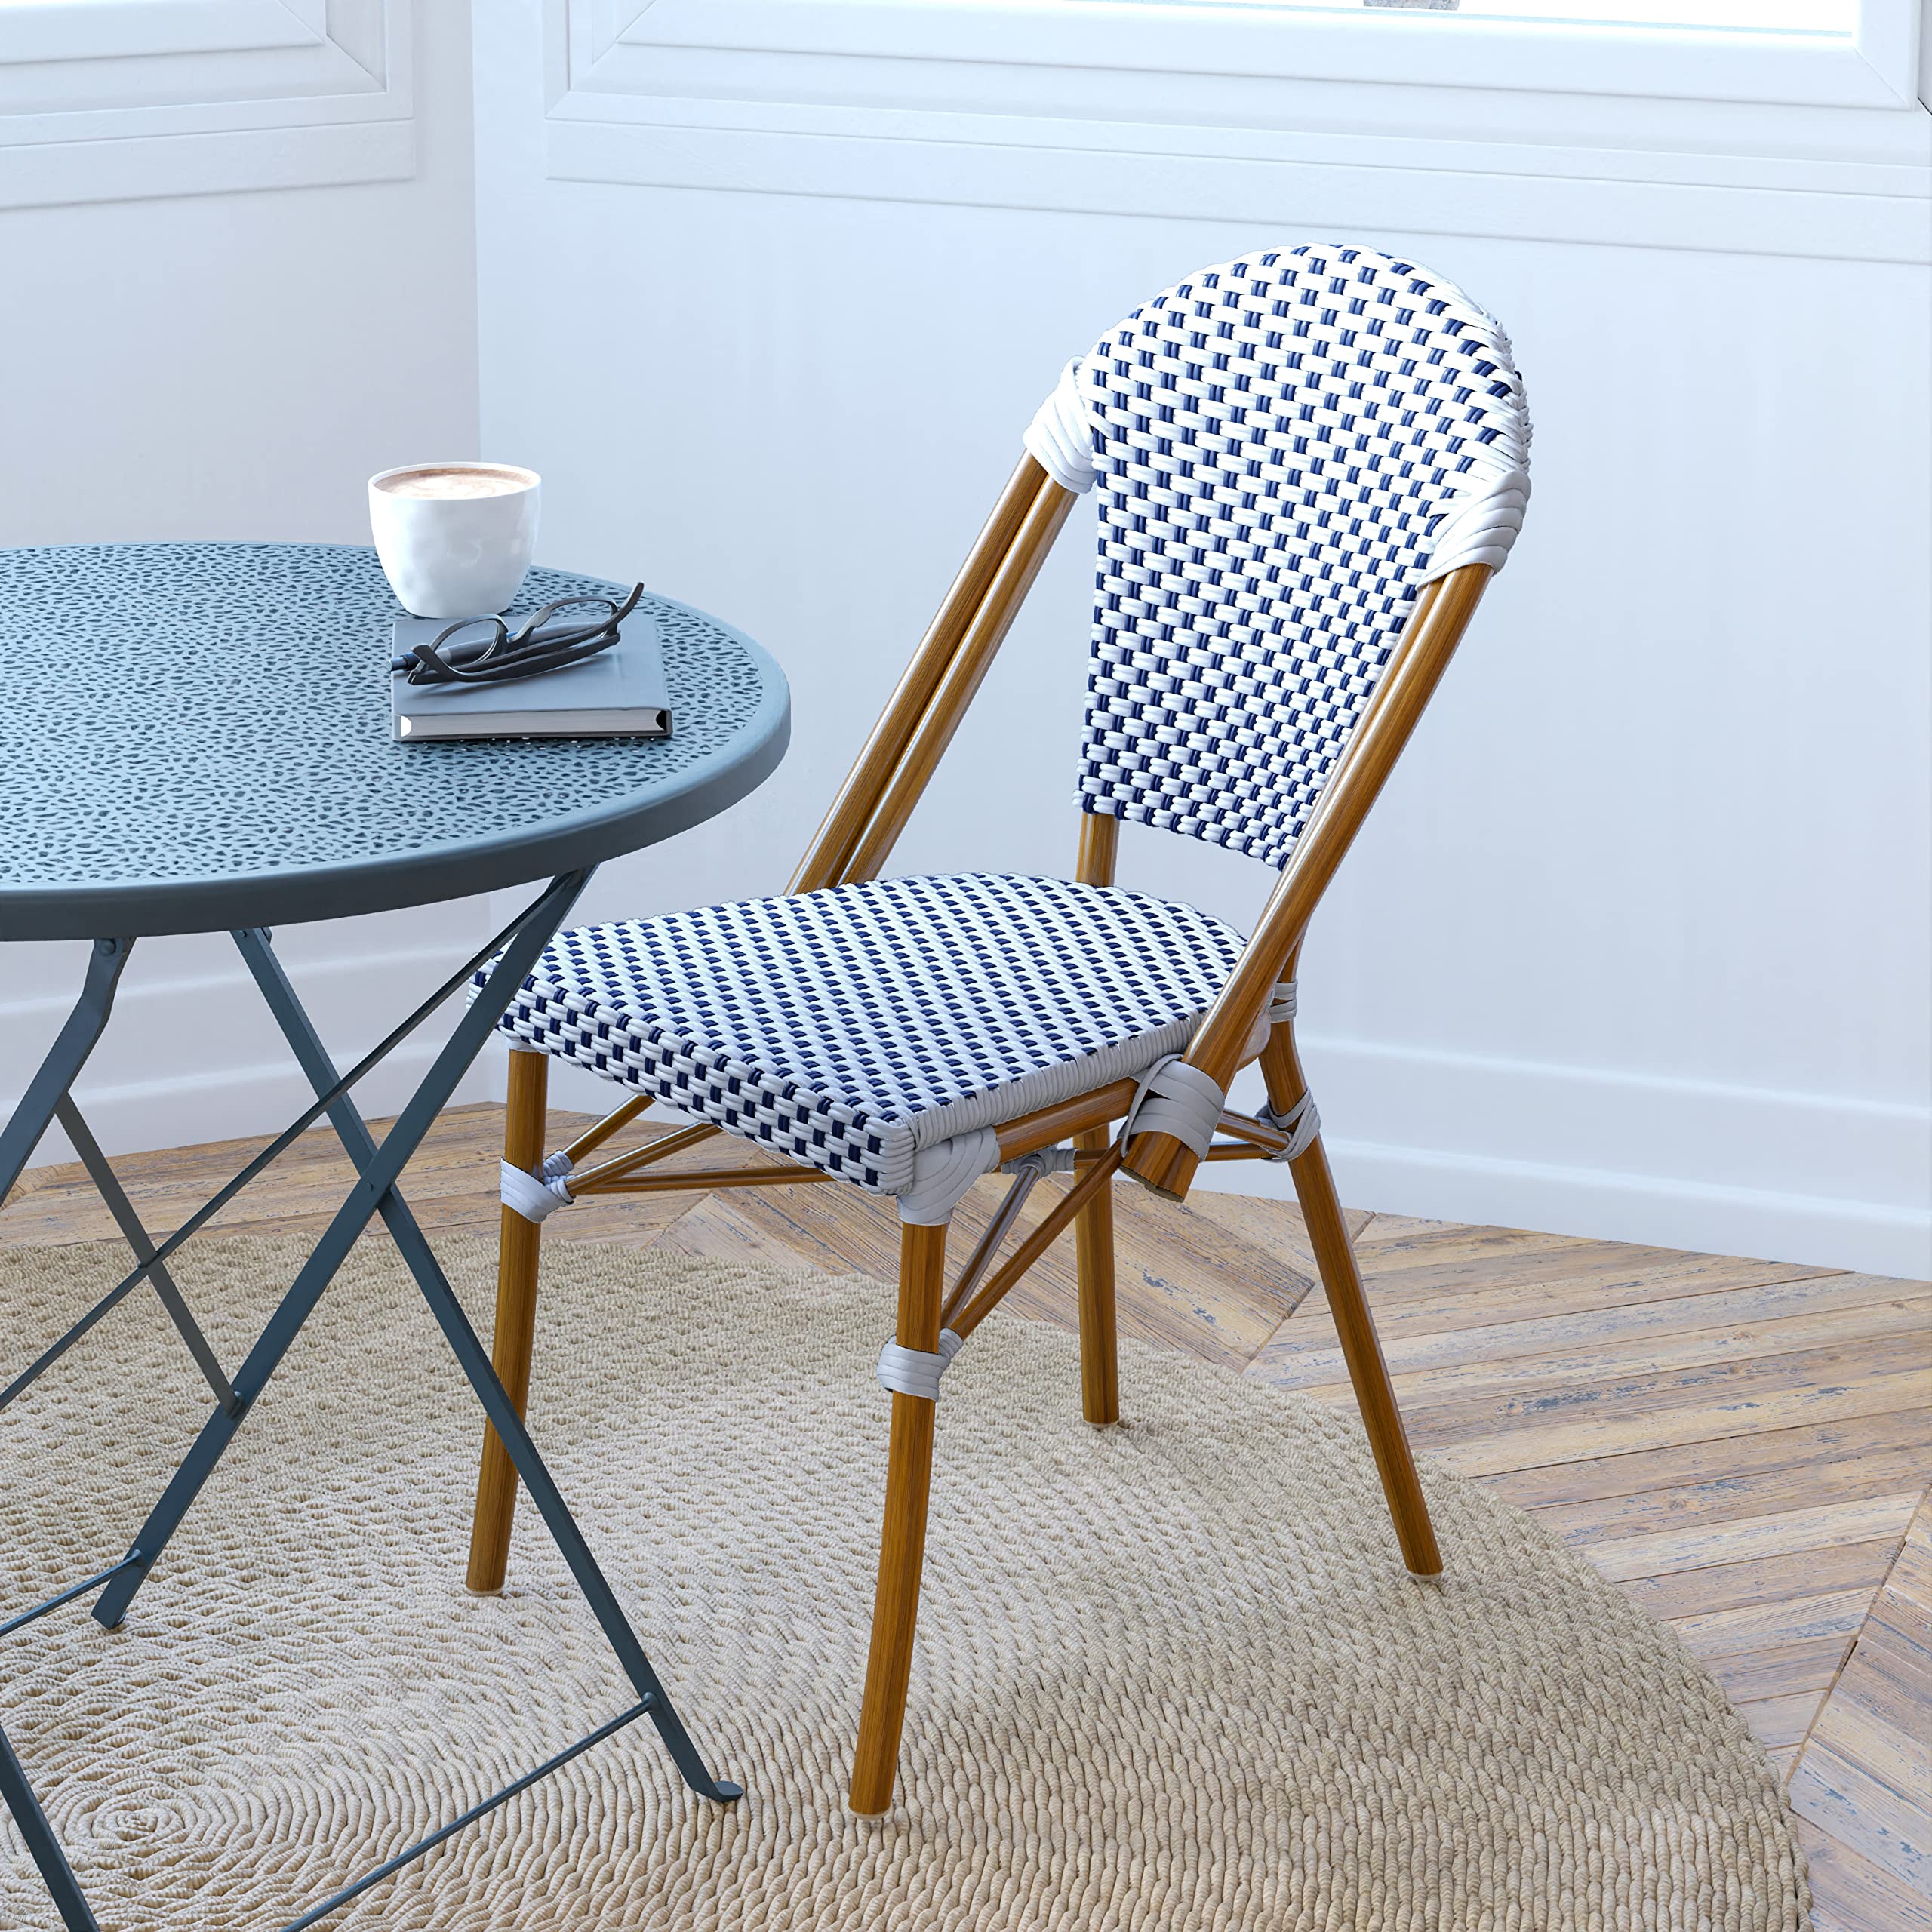
<path fill-rule="evenodd" d="M 518 609 L 576 593 L 622 597 L 624 587 L 533 570 Z M 697 825 L 769 777 L 784 755 L 790 694 L 779 667 L 742 632 L 690 605 L 647 597 L 632 622 L 655 626 L 663 645 L 668 740 L 398 744 L 388 705 L 396 616 L 375 553 L 344 545 L 0 551 L 0 939 L 93 941 L 81 997 L 0 1130 L 0 1198 L 58 1121 L 135 1258 L 95 1308 L 0 1387 L 0 1410 L 27 1395 L 141 1283 L 160 1296 L 214 1397 L 128 1553 L 44 1604 L 4 1615 L 0 1636 L 85 1596 L 95 1598 L 91 1611 L 104 1627 L 124 1621 L 344 1256 L 381 1215 L 636 1692 L 587 1737 L 323 1899 L 284 1932 L 327 1918 L 638 1718 L 653 1719 L 694 1791 L 742 1795 L 736 1783 L 713 1777 L 692 1745 L 398 1177 L 595 866 Z M 282 972 L 270 927 L 516 885 L 539 889 L 342 1072 Z M 195 931 L 232 933 L 317 1097 L 203 1208 L 155 1240 L 73 1105 L 71 1086 L 106 1028 L 135 941 Z M 352 1088 L 483 966 L 491 968 L 487 981 L 377 1144 Z M 168 1256 L 323 1117 L 348 1150 L 357 1184 L 230 1378 L 168 1273 Z M 4 1729 L 0 1801 L 62 1924 L 99 1932 Z"/>

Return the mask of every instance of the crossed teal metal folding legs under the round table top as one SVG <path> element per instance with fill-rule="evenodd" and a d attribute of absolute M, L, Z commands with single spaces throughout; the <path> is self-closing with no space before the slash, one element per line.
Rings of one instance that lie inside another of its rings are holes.
<path fill-rule="evenodd" d="M 589 1748 L 589 1745 L 609 1737 L 614 1729 L 636 1718 L 651 1718 L 684 1781 L 701 1797 L 736 1799 L 744 1795 L 740 1785 L 713 1777 L 703 1760 L 697 1756 L 696 1745 L 692 1745 L 692 1739 L 678 1719 L 670 1698 L 665 1694 L 665 1687 L 657 1681 L 657 1673 L 651 1669 L 643 1644 L 638 1640 L 636 1631 L 632 1631 L 609 1580 L 597 1567 L 597 1559 L 591 1555 L 589 1544 L 583 1540 L 583 1532 L 570 1515 L 570 1507 L 564 1503 L 562 1492 L 556 1488 L 549 1468 L 545 1468 L 543 1457 L 529 1439 L 529 1432 L 524 1428 L 510 1397 L 497 1379 L 497 1372 L 491 1368 L 489 1350 L 483 1347 L 481 1337 L 464 1314 L 462 1304 L 456 1300 L 456 1293 L 450 1289 L 448 1277 L 442 1273 L 442 1267 L 429 1248 L 429 1240 L 423 1236 L 415 1215 L 410 1211 L 400 1190 L 396 1188 L 402 1169 L 421 1146 L 423 1136 L 429 1132 L 437 1115 L 448 1103 L 458 1080 L 462 1080 L 471 1061 L 483 1049 L 485 1039 L 489 1039 L 498 1018 L 502 1018 L 504 1009 L 510 1005 L 516 989 L 524 983 L 526 974 L 535 964 L 543 947 L 564 922 L 564 916 L 570 912 L 570 906 L 583 889 L 587 877 L 587 871 L 580 871 L 566 873 L 553 881 L 545 893 L 541 893 L 458 974 L 444 981 L 444 985 L 431 995 L 431 999 L 425 1001 L 396 1032 L 392 1032 L 381 1045 L 377 1045 L 354 1068 L 350 1068 L 348 1074 L 342 1076 L 336 1074 L 336 1066 L 323 1047 L 315 1026 L 311 1024 L 301 1003 L 296 999 L 296 991 L 288 983 L 288 976 L 282 972 L 282 962 L 274 954 L 267 929 L 247 927 L 236 931 L 236 945 L 242 949 L 242 956 L 247 960 L 249 972 L 255 976 L 255 983 L 261 987 L 276 1024 L 282 1028 L 284 1037 L 294 1049 L 296 1061 L 299 1063 L 309 1084 L 315 1088 L 317 1099 L 315 1105 L 309 1107 L 290 1128 L 278 1134 L 276 1140 L 257 1153 L 242 1169 L 242 1173 L 234 1177 L 234 1180 L 220 1188 L 220 1192 L 216 1192 L 201 1209 L 189 1215 L 182 1227 L 158 1244 L 151 1240 L 147 1231 L 141 1227 L 139 1217 L 128 1204 L 120 1184 L 114 1180 L 106 1159 L 100 1157 L 99 1146 L 93 1142 L 93 1136 L 87 1134 L 85 1124 L 79 1121 L 79 1115 L 73 1111 L 71 1099 L 68 1097 L 68 1088 L 85 1065 L 87 1055 L 93 1051 L 95 1041 L 106 1026 L 108 1010 L 114 1001 L 114 985 L 120 980 L 120 970 L 126 964 L 131 941 L 120 939 L 97 943 L 95 958 L 89 966 L 87 985 L 73 1016 L 68 1020 L 46 1057 L 46 1063 L 41 1066 L 41 1072 L 23 1095 L 12 1122 L 4 1132 L 0 1132 L 0 1196 L 4 1196 L 6 1188 L 17 1179 L 19 1169 L 25 1167 L 27 1157 L 46 1132 L 50 1121 L 58 1117 L 75 1140 L 77 1151 L 87 1163 L 89 1173 L 95 1177 L 95 1182 L 100 1186 L 102 1196 L 126 1233 L 139 1264 L 133 1273 L 118 1283 L 102 1302 L 99 1302 L 73 1329 L 68 1331 L 68 1335 L 46 1350 L 6 1391 L 0 1391 L 0 1406 L 21 1393 L 27 1383 L 43 1374 L 68 1347 L 87 1333 L 89 1327 L 93 1327 L 143 1279 L 155 1283 L 168 1314 L 176 1320 L 176 1325 L 182 1327 L 184 1339 L 187 1339 L 189 1349 L 195 1352 L 195 1360 L 201 1364 L 203 1374 L 209 1378 L 209 1383 L 216 1393 L 214 1412 L 203 1424 L 195 1445 L 176 1470 L 174 1480 L 162 1492 L 160 1501 L 141 1526 L 128 1555 L 122 1557 L 112 1569 L 102 1571 L 99 1577 L 91 1577 L 85 1582 L 60 1592 L 48 1602 L 35 1605 L 8 1623 L 0 1623 L 0 1636 L 6 1636 L 50 1609 L 58 1609 L 62 1604 L 70 1604 L 75 1598 L 85 1596 L 100 1584 L 106 1588 L 100 1590 L 100 1598 L 93 1605 L 93 1615 L 106 1629 L 116 1629 L 120 1625 L 135 1592 L 147 1580 L 162 1549 L 166 1549 L 168 1540 L 174 1536 L 176 1528 L 180 1528 L 182 1519 L 187 1515 L 195 1497 L 214 1474 L 214 1466 L 220 1463 L 222 1451 L 226 1451 L 228 1443 L 234 1441 L 242 1424 L 247 1420 L 251 1405 L 267 1387 L 269 1378 L 282 1362 L 282 1356 L 288 1352 L 296 1335 L 301 1333 L 303 1323 L 315 1312 L 317 1302 L 334 1279 L 342 1262 L 348 1258 L 350 1248 L 361 1236 L 371 1217 L 381 1215 L 388 1227 L 390 1238 L 402 1254 L 404 1264 L 415 1277 L 415 1285 L 421 1289 L 423 1300 L 429 1302 L 429 1310 L 437 1318 L 450 1350 L 456 1354 L 458 1366 L 475 1389 L 477 1401 L 483 1405 L 483 1412 L 489 1416 L 491 1426 L 508 1451 L 510 1463 L 549 1526 L 551 1536 L 556 1540 L 556 1548 L 562 1553 L 564 1563 L 570 1567 L 578 1588 L 583 1592 L 591 1613 L 597 1617 L 599 1629 L 603 1629 L 607 1642 L 612 1652 L 616 1652 L 616 1660 L 622 1665 L 624 1675 L 636 1690 L 638 1702 L 630 1710 L 601 1725 L 587 1739 L 580 1739 L 547 1764 L 526 1774 L 514 1785 L 498 1791 L 483 1804 L 464 1812 L 462 1818 L 452 1820 L 452 1824 L 423 1839 L 419 1845 L 413 1845 L 377 1866 L 375 1872 L 363 1874 L 363 1878 L 359 1878 L 354 1886 L 348 1886 L 346 1889 L 325 1899 L 321 1905 L 313 1907 L 301 1918 L 284 1928 L 284 1932 L 301 1932 L 301 1928 L 311 1926 L 338 1907 L 348 1905 L 350 1899 L 357 1897 L 361 1891 L 369 1889 L 369 1886 L 410 1862 L 410 1859 L 429 1851 L 452 1832 L 469 1824 L 473 1818 L 483 1816 L 483 1812 L 514 1797 L 537 1777 L 568 1762 L 580 1750 Z M 464 985 L 477 966 L 481 966 L 498 949 L 502 956 L 491 972 L 489 981 L 471 1001 L 468 1012 L 464 1012 L 458 1020 L 448 1043 L 423 1076 L 415 1095 L 396 1117 L 394 1126 L 379 1146 L 354 1099 L 350 1099 L 350 1088 L 431 1010 L 435 1010 L 435 1007 L 442 1005 L 450 993 Z M 355 1165 L 359 1175 L 357 1184 L 338 1209 L 336 1217 L 330 1221 L 328 1229 L 323 1233 L 309 1260 L 298 1271 L 294 1283 L 284 1294 L 274 1316 L 269 1320 L 269 1325 L 263 1329 L 255 1347 L 249 1350 L 247 1360 L 242 1364 L 234 1381 L 228 1383 L 220 1366 L 214 1362 L 205 1337 L 201 1337 L 201 1329 L 193 1323 L 193 1316 L 187 1314 L 185 1302 L 180 1298 L 180 1291 L 168 1279 L 166 1260 L 176 1248 L 182 1246 L 184 1240 L 187 1240 L 189 1235 L 205 1227 L 207 1221 L 211 1221 L 228 1204 L 228 1200 L 253 1180 L 255 1175 L 269 1165 L 269 1161 L 288 1148 L 298 1134 L 313 1126 L 323 1115 L 328 1115 L 336 1136 L 342 1140 L 350 1161 Z M 79 1132 L 75 1134 L 77 1126 Z M 27 1849 L 33 1855 L 35 1864 L 41 1868 L 41 1876 L 60 1909 L 60 1917 L 68 1932 L 99 1932 L 79 1882 L 75 1880 L 52 1826 L 46 1820 L 46 1812 L 35 1797 L 27 1774 L 8 1745 L 4 1731 L 0 1731 L 0 1801 L 6 1803 L 8 1810 L 12 1810 L 15 1822 L 19 1824 Z"/>

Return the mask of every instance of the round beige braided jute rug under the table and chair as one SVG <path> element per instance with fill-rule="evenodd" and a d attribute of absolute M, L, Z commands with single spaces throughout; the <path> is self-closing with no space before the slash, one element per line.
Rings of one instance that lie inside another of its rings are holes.
<path fill-rule="evenodd" d="M 491 1250 L 439 1244 L 473 1310 Z M 230 1362 L 299 1246 L 182 1281 Z M 0 1254 L 0 1349 L 126 1265 Z M 1777 1783 L 1718 1687 L 1520 1511 L 1426 1484 L 1403 1575 L 1362 1432 L 995 1316 L 947 1378 L 898 1806 L 844 1812 L 885 1466 L 891 1296 L 553 1242 L 531 1420 L 699 1747 L 649 1721 L 332 1924 L 384 1932 L 1567 1932 L 1799 1928 Z M 0 1416 L 0 1602 L 118 1557 L 207 1412 L 153 1296 Z M 628 1702 L 527 1501 L 512 1590 L 462 1590 L 477 1414 L 365 1242 L 106 1634 L 10 1638 L 0 1721 L 112 1932 L 257 1932 Z M 0 1926 L 52 1924 L 0 1826 Z"/>

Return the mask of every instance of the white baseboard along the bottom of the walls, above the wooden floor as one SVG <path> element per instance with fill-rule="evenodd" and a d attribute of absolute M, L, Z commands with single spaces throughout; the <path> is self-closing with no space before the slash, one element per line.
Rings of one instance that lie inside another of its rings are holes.
<path fill-rule="evenodd" d="M 323 1036 L 352 1055 L 458 956 L 413 947 L 298 966 L 296 978 Z M 66 999 L 0 1014 L 0 1103 L 25 1086 Z M 452 1001 L 440 1024 L 369 1076 L 367 1113 L 402 1105 L 454 1012 Z M 1350 1206 L 1932 1275 L 1926 1109 L 1349 1039 L 1310 1037 L 1304 1053 Z M 456 1101 L 500 1099 L 502 1068 L 504 1055 L 487 1047 Z M 1258 1097 L 1252 1080 L 1236 1101 Z M 611 1082 L 553 1065 L 553 1107 L 603 1113 L 618 1097 Z M 253 987 L 224 972 L 129 987 L 77 1099 L 120 1153 L 274 1132 L 309 1094 Z M 58 1130 L 35 1155 L 71 1157 Z M 1200 1184 L 1293 1194 L 1287 1171 L 1260 1161 L 1206 1169 Z"/>

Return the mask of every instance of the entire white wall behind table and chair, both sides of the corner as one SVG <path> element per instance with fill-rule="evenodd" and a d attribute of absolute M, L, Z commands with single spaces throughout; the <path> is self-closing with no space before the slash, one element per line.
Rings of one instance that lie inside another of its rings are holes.
<path fill-rule="evenodd" d="M 796 692 L 782 771 L 587 916 L 773 891 L 1061 361 L 1248 247 L 1410 251 L 1511 327 L 1538 495 L 1304 962 L 1349 1196 L 1932 1269 L 1924 114 L 1142 77 L 1099 124 L 1119 75 L 726 71 L 638 41 L 701 43 L 688 8 L 605 12 L 479 10 L 475 274 L 456 0 L 408 180 L 0 214 L 0 541 L 352 539 L 379 464 L 531 462 L 547 562 L 721 612 Z M 914 73 L 943 124 L 883 91 Z M 904 867 L 1068 864 L 1088 582 L 1070 531 Z M 1231 918 L 1267 883 L 1138 831 L 1124 877 Z M 286 945 L 354 1051 L 481 918 Z M 0 954 L 0 1095 L 77 970 Z M 286 1117 L 234 983 L 143 947 L 83 1086 L 110 1146 Z"/>

